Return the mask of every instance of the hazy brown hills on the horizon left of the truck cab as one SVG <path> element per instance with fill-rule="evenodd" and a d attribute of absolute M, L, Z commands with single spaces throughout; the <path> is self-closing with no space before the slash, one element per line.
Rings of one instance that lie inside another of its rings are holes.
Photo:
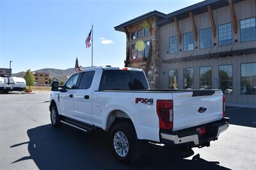
<path fill-rule="evenodd" d="M 84 69 L 86 67 L 82 67 L 82 69 Z M 50 77 L 56 77 L 58 80 L 61 79 L 68 79 L 68 77 L 70 77 L 70 75 L 72 75 L 72 73 L 74 73 L 74 68 L 67 68 L 65 70 L 61 70 L 61 69 L 55 69 L 55 68 L 42 68 L 40 70 L 35 70 L 32 72 L 44 72 L 44 73 L 49 73 Z M 19 73 L 13 73 L 12 76 L 15 77 L 24 77 L 26 72 L 19 72 Z"/>

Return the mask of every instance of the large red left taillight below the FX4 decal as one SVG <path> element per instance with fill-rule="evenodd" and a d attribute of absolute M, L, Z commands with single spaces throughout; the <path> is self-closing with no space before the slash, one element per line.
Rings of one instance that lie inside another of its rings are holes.
<path fill-rule="evenodd" d="M 172 130 L 173 100 L 157 100 L 156 111 L 159 118 L 159 128 L 165 130 Z"/>

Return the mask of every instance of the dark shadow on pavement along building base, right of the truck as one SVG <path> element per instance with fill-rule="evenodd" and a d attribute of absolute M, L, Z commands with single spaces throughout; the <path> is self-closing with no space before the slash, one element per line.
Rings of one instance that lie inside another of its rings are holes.
<path fill-rule="evenodd" d="M 256 108 L 227 106 L 226 116 L 232 125 L 256 128 Z"/>

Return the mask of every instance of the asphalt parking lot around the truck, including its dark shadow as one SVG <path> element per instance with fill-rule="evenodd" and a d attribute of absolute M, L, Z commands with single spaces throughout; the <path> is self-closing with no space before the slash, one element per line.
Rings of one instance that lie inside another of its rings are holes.
<path fill-rule="evenodd" d="M 138 162 L 116 162 L 108 134 L 52 128 L 50 92 L 0 95 L 0 169 L 256 169 L 256 109 L 227 107 L 230 128 L 209 148 L 150 144 Z"/>

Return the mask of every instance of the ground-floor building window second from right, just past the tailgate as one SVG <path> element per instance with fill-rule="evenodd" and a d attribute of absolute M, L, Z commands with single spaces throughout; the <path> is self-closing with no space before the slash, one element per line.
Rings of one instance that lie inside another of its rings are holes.
<path fill-rule="evenodd" d="M 232 95 L 233 93 L 233 66 L 219 66 L 219 88 L 224 94 Z"/>

